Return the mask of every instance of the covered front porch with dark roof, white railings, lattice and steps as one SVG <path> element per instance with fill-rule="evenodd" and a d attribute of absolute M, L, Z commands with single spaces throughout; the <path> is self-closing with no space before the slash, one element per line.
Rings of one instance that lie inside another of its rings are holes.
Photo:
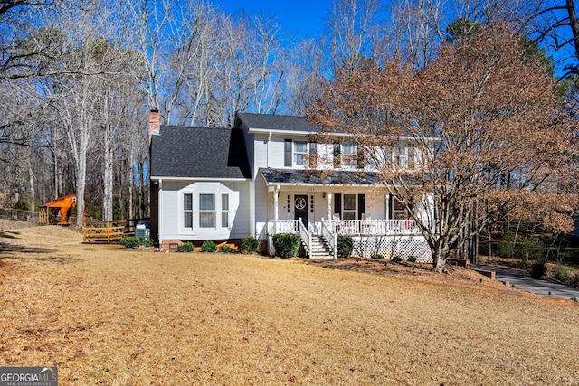
<path fill-rule="evenodd" d="M 269 240 L 278 233 L 299 234 L 309 259 L 336 259 L 337 236 L 355 240 L 356 256 L 414 256 L 432 261 L 415 221 L 377 184 L 375 175 L 334 173 L 324 178 L 305 171 L 262 170 L 267 220 L 257 233 Z M 261 229 L 261 231 L 260 231 Z"/>

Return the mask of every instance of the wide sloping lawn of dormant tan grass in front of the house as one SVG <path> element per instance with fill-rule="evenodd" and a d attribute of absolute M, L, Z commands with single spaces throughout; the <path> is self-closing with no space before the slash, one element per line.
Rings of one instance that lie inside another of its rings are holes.
<path fill-rule="evenodd" d="M 58 227 L 13 235 L 0 237 L 0 363 L 58 366 L 62 385 L 579 380 L 579 307 L 458 274 L 450 286 L 301 259 L 82 245 Z"/>

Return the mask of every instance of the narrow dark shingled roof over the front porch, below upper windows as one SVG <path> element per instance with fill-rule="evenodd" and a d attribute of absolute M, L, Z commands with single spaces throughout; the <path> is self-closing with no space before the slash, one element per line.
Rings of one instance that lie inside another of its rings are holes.
<path fill-rule="evenodd" d="M 322 172 L 319 170 L 260 169 L 268 184 L 325 184 L 325 185 L 376 185 L 380 178 L 374 172 L 348 172 L 344 170 Z"/>

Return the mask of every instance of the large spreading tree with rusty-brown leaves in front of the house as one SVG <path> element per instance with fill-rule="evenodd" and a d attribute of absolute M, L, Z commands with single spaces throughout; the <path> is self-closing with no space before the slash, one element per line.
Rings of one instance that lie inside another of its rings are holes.
<path fill-rule="evenodd" d="M 320 124 L 349 135 L 332 140 L 361 146 L 411 213 L 436 271 L 494 215 L 525 203 L 548 202 L 546 226 L 570 229 L 576 193 L 558 187 L 574 170 L 577 122 L 519 40 L 491 25 L 442 46 L 422 71 L 400 61 L 340 71 L 318 108 Z"/>

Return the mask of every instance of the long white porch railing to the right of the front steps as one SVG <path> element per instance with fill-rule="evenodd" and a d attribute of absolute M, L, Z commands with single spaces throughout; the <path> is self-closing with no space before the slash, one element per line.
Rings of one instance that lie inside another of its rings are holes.
<path fill-rule="evenodd" d="M 413 220 L 326 220 L 328 228 L 345 235 L 417 235 Z"/>

